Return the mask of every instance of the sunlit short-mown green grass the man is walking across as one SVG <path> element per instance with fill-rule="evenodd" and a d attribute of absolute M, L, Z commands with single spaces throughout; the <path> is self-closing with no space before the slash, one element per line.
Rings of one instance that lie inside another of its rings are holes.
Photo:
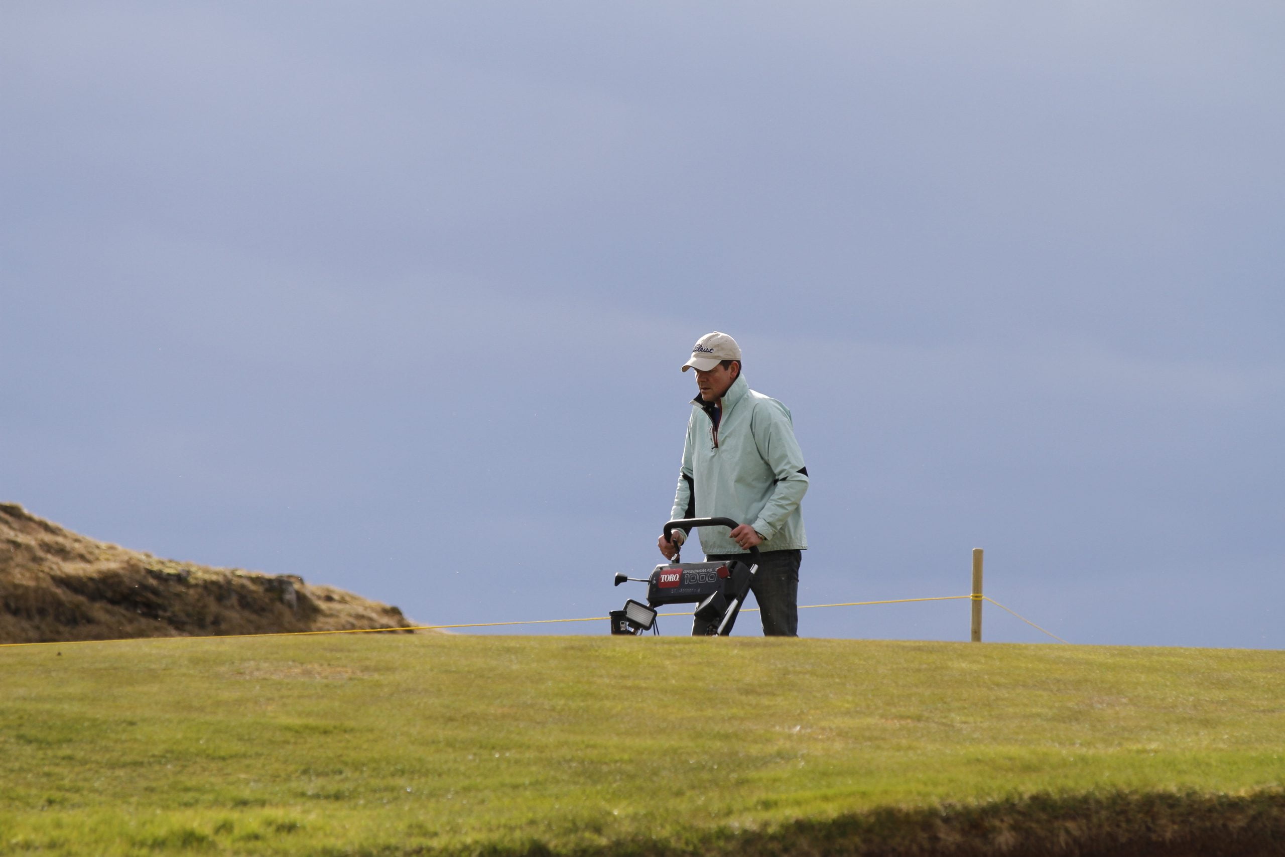
<path fill-rule="evenodd" d="M 1275 802 L 1282 745 L 1280 651 L 389 633 L 4 648 L 0 853 L 748 853 L 743 831 L 882 807 Z"/>

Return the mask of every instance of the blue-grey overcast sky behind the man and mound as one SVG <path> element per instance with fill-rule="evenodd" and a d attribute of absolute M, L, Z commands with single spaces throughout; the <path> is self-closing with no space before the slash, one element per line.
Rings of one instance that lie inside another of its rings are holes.
<path fill-rule="evenodd" d="M 1276 3 L 8 3 L 0 497 L 421 622 L 599 615 L 721 329 L 808 459 L 803 603 L 982 546 L 1074 641 L 1285 648 L 1282 42 Z"/>

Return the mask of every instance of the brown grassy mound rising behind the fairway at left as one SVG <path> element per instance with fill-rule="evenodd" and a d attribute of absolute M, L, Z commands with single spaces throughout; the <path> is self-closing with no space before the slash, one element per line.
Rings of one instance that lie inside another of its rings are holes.
<path fill-rule="evenodd" d="M 294 574 L 157 559 L 0 504 L 0 642 L 407 624 L 394 606 Z"/>

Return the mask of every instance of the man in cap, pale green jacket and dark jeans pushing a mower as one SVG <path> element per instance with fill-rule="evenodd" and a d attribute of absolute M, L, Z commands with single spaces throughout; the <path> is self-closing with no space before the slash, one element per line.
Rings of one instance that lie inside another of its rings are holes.
<path fill-rule="evenodd" d="M 807 493 L 807 468 L 794 439 L 788 407 L 749 388 L 741 375 L 740 346 L 725 333 L 696 340 L 682 371 L 696 371 L 699 394 L 691 400 L 682 473 L 671 519 L 731 518 L 740 526 L 700 528 L 705 559 L 761 558 L 750 591 L 758 601 L 766 636 L 798 636 L 798 585 L 807 549 L 799 501 Z M 687 533 L 660 536 L 666 559 L 673 559 Z M 735 622 L 735 617 L 732 617 Z M 709 631 L 699 619 L 694 635 Z"/>

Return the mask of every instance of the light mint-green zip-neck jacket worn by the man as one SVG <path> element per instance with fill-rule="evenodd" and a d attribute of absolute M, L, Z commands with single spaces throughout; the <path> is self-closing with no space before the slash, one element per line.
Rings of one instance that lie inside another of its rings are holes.
<path fill-rule="evenodd" d="M 717 432 L 705 403 L 691 400 L 682 474 L 671 519 L 731 518 L 763 537 L 758 550 L 803 550 L 807 468 L 788 407 L 736 378 L 721 401 Z M 705 554 L 744 554 L 725 527 L 702 527 Z"/>

